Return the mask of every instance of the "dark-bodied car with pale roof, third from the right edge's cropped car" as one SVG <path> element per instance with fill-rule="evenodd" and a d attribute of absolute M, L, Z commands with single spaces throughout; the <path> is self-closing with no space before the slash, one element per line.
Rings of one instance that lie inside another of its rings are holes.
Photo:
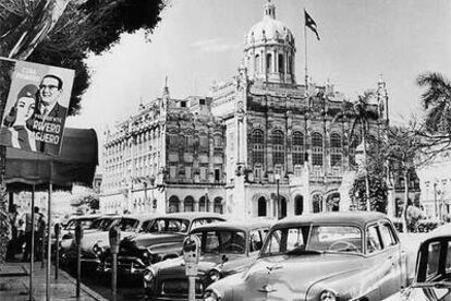
<path fill-rule="evenodd" d="M 172 213 L 155 219 L 146 233 L 136 233 L 121 240 L 118 254 L 118 273 L 142 277 L 144 269 L 157 262 L 178 257 L 183 240 L 190 230 L 205 224 L 224 221 L 220 214 Z M 106 256 L 98 272 L 111 270 L 111 255 Z"/>

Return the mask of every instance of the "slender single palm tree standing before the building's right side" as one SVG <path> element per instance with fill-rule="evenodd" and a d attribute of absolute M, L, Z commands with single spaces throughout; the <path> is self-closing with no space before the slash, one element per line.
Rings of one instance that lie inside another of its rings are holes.
<path fill-rule="evenodd" d="M 368 101 L 374 97 L 373 92 L 365 92 L 364 95 L 358 95 L 358 99 L 354 103 L 343 101 L 343 106 L 340 112 L 336 115 L 332 123 L 339 118 L 352 119 L 352 127 L 350 131 L 350 141 L 354 141 L 355 129 L 358 128 L 362 136 L 365 167 L 367 166 L 367 132 L 368 132 L 368 120 L 375 117 L 375 112 L 368 110 Z M 351 144 L 351 143 L 350 143 Z M 365 172 L 365 196 L 366 196 L 366 209 L 370 210 L 369 202 L 369 179 L 368 173 Z"/>

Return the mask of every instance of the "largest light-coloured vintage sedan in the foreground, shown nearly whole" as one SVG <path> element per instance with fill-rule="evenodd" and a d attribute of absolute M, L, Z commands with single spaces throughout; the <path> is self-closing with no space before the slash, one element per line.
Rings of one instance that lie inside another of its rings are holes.
<path fill-rule="evenodd" d="M 210 285 L 204 300 L 376 301 L 400 290 L 404 270 L 385 215 L 303 215 L 275 224 L 254 264 Z"/>

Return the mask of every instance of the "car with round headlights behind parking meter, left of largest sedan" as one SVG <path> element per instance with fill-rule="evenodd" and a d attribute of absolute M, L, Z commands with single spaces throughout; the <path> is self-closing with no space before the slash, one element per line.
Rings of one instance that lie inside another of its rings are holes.
<path fill-rule="evenodd" d="M 247 268 L 257 258 L 269 227 L 263 220 L 224 221 L 191 231 L 200 240 L 197 298 L 211 282 Z M 187 299 L 183 256 L 148 266 L 143 280 L 150 300 Z"/>

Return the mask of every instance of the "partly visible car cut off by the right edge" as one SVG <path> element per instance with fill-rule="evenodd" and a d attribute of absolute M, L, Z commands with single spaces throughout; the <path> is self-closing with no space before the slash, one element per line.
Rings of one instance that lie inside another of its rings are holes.
<path fill-rule="evenodd" d="M 413 284 L 385 301 L 451 300 L 451 225 L 429 232 L 419 245 Z"/>

